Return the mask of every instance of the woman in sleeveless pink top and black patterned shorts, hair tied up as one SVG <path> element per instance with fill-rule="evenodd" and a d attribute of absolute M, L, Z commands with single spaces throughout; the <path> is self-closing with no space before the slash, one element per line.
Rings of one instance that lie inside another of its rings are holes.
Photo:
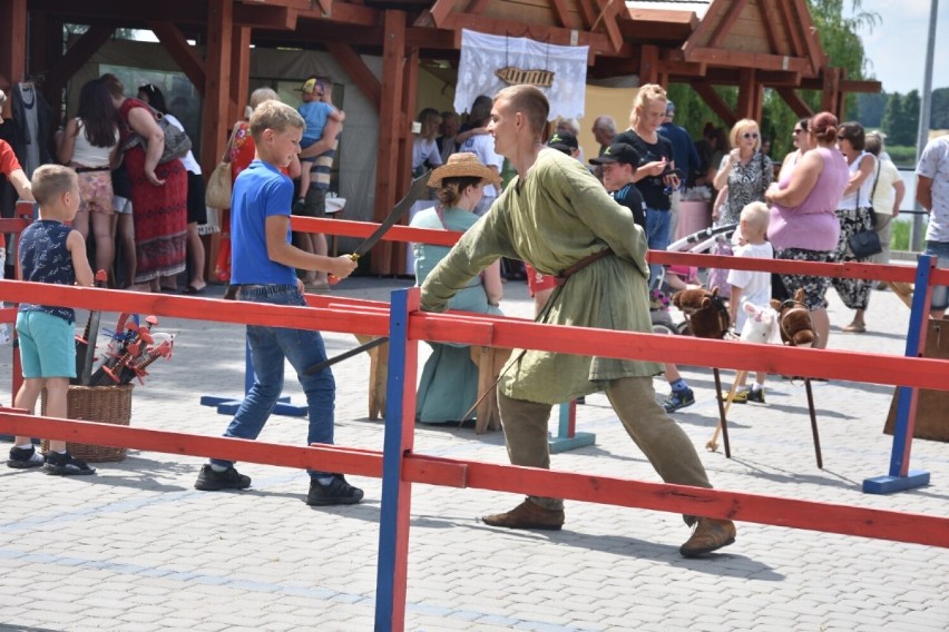
<path fill-rule="evenodd" d="M 837 117 L 830 112 L 814 116 L 808 126 L 812 149 L 765 192 L 772 205 L 767 238 L 777 259 L 824 263 L 837 250 L 840 237 L 837 207 L 850 176 L 843 156 L 837 150 Z M 830 278 L 781 275 L 781 280 L 792 296 L 799 288 L 804 289 L 804 303 L 818 335 L 814 346 L 825 348 L 830 319 L 824 296 Z"/>

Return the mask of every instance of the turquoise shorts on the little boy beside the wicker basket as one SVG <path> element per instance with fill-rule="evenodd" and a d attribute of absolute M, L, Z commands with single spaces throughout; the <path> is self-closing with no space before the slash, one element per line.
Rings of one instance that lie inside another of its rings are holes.
<path fill-rule="evenodd" d="M 17 314 L 23 377 L 76 377 L 72 324 L 46 312 Z"/>

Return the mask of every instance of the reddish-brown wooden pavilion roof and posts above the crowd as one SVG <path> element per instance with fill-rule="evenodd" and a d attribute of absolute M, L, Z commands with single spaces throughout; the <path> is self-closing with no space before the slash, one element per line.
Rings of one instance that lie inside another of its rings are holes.
<path fill-rule="evenodd" d="M 88 26 L 68 49 L 66 23 Z M 461 29 L 588 46 L 590 78 L 689 83 L 726 124 L 760 119 L 765 88 L 799 116 L 812 112 L 798 91 L 820 90 L 822 108 L 840 117 L 848 92 L 880 90 L 828 66 L 806 0 L 0 0 L 0 89 L 31 78 L 61 102 L 117 28 L 150 29 L 203 95 L 207 174 L 243 111 L 251 47 L 327 51 L 378 107 L 378 154 L 393 157 L 375 167 L 376 219 L 408 187 L 420 63 L 457 63 Z M 381 58 L 379 76 L 364 56 Z M 716 86 L 737 86 L 735 108 Z M 397 249 L 374 255 L 374 271 L 400 269 Z"/>

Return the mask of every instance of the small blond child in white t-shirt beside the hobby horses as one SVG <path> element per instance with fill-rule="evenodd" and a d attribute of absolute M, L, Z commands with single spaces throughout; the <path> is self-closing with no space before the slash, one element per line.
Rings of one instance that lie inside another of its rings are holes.
<path fill-rule="evenodd" d="M 762 201 L 753 201 L 742 209 L 738 220 L 738 247 L 736 257 L 755 257 L 760 259 L 774 258 L 774 248 L 765 239 L 771 213 Z M 767 307 L 771 304 L 771 273 L 753 270 L 730 270 L 728 284 L 732 287 L 732 298 L 728 304 L 735 333 L 741 333 L 745 325 L 746 312 L 744 304 Z M 751 391 L 744 388 L 744 378 L 740 379 L 742 387 L 733 399 L 735 403 L 747 401 L 764 403 L 765 373 L 755 373 L 755 384 Z"/>

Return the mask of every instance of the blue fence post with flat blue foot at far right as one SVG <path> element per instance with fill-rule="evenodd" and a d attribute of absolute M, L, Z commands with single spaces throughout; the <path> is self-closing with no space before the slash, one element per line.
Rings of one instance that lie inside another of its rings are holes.
<path fill-rule="evenodd" d="M 921 255 L 916 268 L 916 284 L 912 294 L 909 332 L 907 333 L 907 357 L 920 357 L 926 348 L 926 333 L 929 328 L 929 305 L 932 300 L 932 286 L 929 279 L 936 259 Z M 897 398 L 897 419 L 893 428 L 893 448 L 890 453 L 890 472 L 886 476 L 874 476 L 863 481 L 867 494 L 891 494 L 929 484 L 929 472 L 910 470 L 910 450 L 916 424 L 916 404 L 919 389 L 900 386 Z"/>

